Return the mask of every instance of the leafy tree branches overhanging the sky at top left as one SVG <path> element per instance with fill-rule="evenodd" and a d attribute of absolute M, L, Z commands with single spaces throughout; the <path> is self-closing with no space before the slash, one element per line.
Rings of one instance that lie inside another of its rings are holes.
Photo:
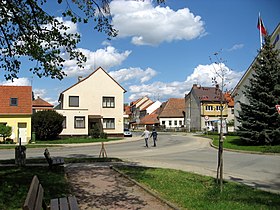
<path fill-rule="evenodd" d="M 38 77 L 63 79 L 65 61 L 76 60 L 82 67 L 86 57 L 77 50 L 79 34 L 67 32 L 68 27 L 46 12 L 47 0 L 8 0 L 0 6 L 0 70 L 7 80 L 17 78 L 21 58 L 33 61 L 29 70 Z M 94 29 L 104 32 L 109 38 L 117 35 L 110 24 L 111 0 L 57 0 L 64 12 L 62 16 L 74 23 L 95 22 Z M 158 3 L 164 0 L 157 0 Z M 76 8 L 76 11 L 74 10 Z"/>

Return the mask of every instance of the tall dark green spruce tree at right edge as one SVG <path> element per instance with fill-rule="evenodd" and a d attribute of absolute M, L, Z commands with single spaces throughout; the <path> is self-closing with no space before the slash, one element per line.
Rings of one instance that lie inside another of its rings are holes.
<path fill-rule="evenodd" d="M 280 104 L 279 50 L 265 43 L 252 65 L 253 76 L 245 86 L 244 94 L 249 103 L 239 102 L 238 135 L 250 145 L 280 144 L 280 115 L 275 105 Z"/>

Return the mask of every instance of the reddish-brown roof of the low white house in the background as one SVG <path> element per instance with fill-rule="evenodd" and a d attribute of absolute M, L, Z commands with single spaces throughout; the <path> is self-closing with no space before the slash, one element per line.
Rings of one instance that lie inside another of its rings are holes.
<path fill-rule="evenodd" d="M 159 117 L 184 117 L 185 108 L 184 98 L 170 98 L 162 108 Z"/>

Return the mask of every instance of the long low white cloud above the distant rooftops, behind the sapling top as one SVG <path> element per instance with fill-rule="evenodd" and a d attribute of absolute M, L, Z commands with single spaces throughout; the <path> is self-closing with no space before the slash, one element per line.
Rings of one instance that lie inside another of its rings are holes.
<path fill-rule="evenodd" d="M 236 72 L 229 69 L 224 64 L 221 68 L 225 70 L 225 88 L 231 90 L 240 80 L 244 72 Z M 143 96 L 151 97 L 151 99 L 160 99 L 166 101 L 169 98 L 183 98 L 187 94 L 193 84 L 199 84 L 204 87 L 212 87 L 212 78 L 216 77 L 215 69 L 218 71 L 219 66 L 215 63 L 210 65 L 198 65 L 193 73 L 186 78 L 185 81 L 174 81 L 170 83 L 154 82 L 150 84 L 131 85 L 129 89 L 129 101 L 136 100 Z M 217 78 L 218 82 L 221 80 Z"/>

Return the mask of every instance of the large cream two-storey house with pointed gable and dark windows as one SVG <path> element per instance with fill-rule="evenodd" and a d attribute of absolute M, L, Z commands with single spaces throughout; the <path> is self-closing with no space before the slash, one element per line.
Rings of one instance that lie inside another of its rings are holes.
<path fill-rule="evenodd" d="M 108 136 L 123 136 L 125 89 L 103 68 L 64 90 L 56 111 L 64 116 L 61 136 L 88 136 L 98 126 Z"/>

